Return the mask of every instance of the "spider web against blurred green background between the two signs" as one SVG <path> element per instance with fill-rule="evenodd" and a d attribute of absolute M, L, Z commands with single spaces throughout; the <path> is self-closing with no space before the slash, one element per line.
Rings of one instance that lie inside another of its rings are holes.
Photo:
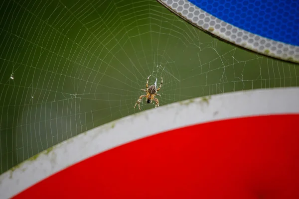
<path fill-rule="evenodd" d="M 296 64 L 215 39 L 155 0 L 4 0 L 0 13 L 0 173 L 139 112 L 149 75 L 163 77 L 160 106 L 298 86 Z"/>

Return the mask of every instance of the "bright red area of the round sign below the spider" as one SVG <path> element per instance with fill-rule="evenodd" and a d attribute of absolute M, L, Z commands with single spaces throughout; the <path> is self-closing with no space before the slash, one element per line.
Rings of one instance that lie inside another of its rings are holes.
<path fill-rule="evenodd" d="M 160 133 L 75 164 L 15 199 L 299 199 L 298 121 L 257 116 Z"/>

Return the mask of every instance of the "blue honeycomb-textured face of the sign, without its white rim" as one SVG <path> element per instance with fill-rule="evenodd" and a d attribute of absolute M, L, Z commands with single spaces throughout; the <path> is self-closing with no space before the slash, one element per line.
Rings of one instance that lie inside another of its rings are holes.
<path fill-rule="evenodd" d="M 248 32 L 299 46 L 299 0 L 189 0 Z"/>

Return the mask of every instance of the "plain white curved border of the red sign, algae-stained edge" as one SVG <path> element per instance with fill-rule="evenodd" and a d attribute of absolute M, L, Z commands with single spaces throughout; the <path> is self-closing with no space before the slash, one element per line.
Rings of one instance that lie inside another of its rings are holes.
<path fill-rule="evenodd" d="M 143 111 L 64 141 L 2 174 L 0 199 L 10 198 L 88 157 L 158 132 L 225 118 L 282 113 L 299 113 L 299 88 L 226 93 Z M 145 128 L 149 123 L 151 128 Z"/>

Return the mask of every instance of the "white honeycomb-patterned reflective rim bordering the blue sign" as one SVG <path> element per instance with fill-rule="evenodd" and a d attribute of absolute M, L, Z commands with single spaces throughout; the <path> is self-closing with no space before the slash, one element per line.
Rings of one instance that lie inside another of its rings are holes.
<path fill-rule="evenodd" d="M 299 46 L 268 39 L 238 28 L 209 14 L 188 0 L 157 0 L 196 27 L 226 41 L 275 58 L 299 63 Z"/>

